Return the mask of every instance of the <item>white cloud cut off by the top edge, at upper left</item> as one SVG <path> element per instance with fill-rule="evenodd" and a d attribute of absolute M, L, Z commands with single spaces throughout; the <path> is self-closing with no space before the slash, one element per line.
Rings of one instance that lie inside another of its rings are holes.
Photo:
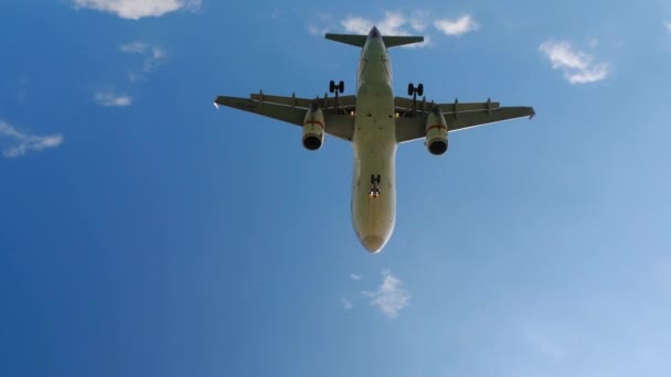
<path fill-rule="evenodd" d="M 195 11 L 201 2 L 202 0 L 72 0 L 76 9 L 95 9 L 129 20 L 161 17 L 178 10 Z"/>

